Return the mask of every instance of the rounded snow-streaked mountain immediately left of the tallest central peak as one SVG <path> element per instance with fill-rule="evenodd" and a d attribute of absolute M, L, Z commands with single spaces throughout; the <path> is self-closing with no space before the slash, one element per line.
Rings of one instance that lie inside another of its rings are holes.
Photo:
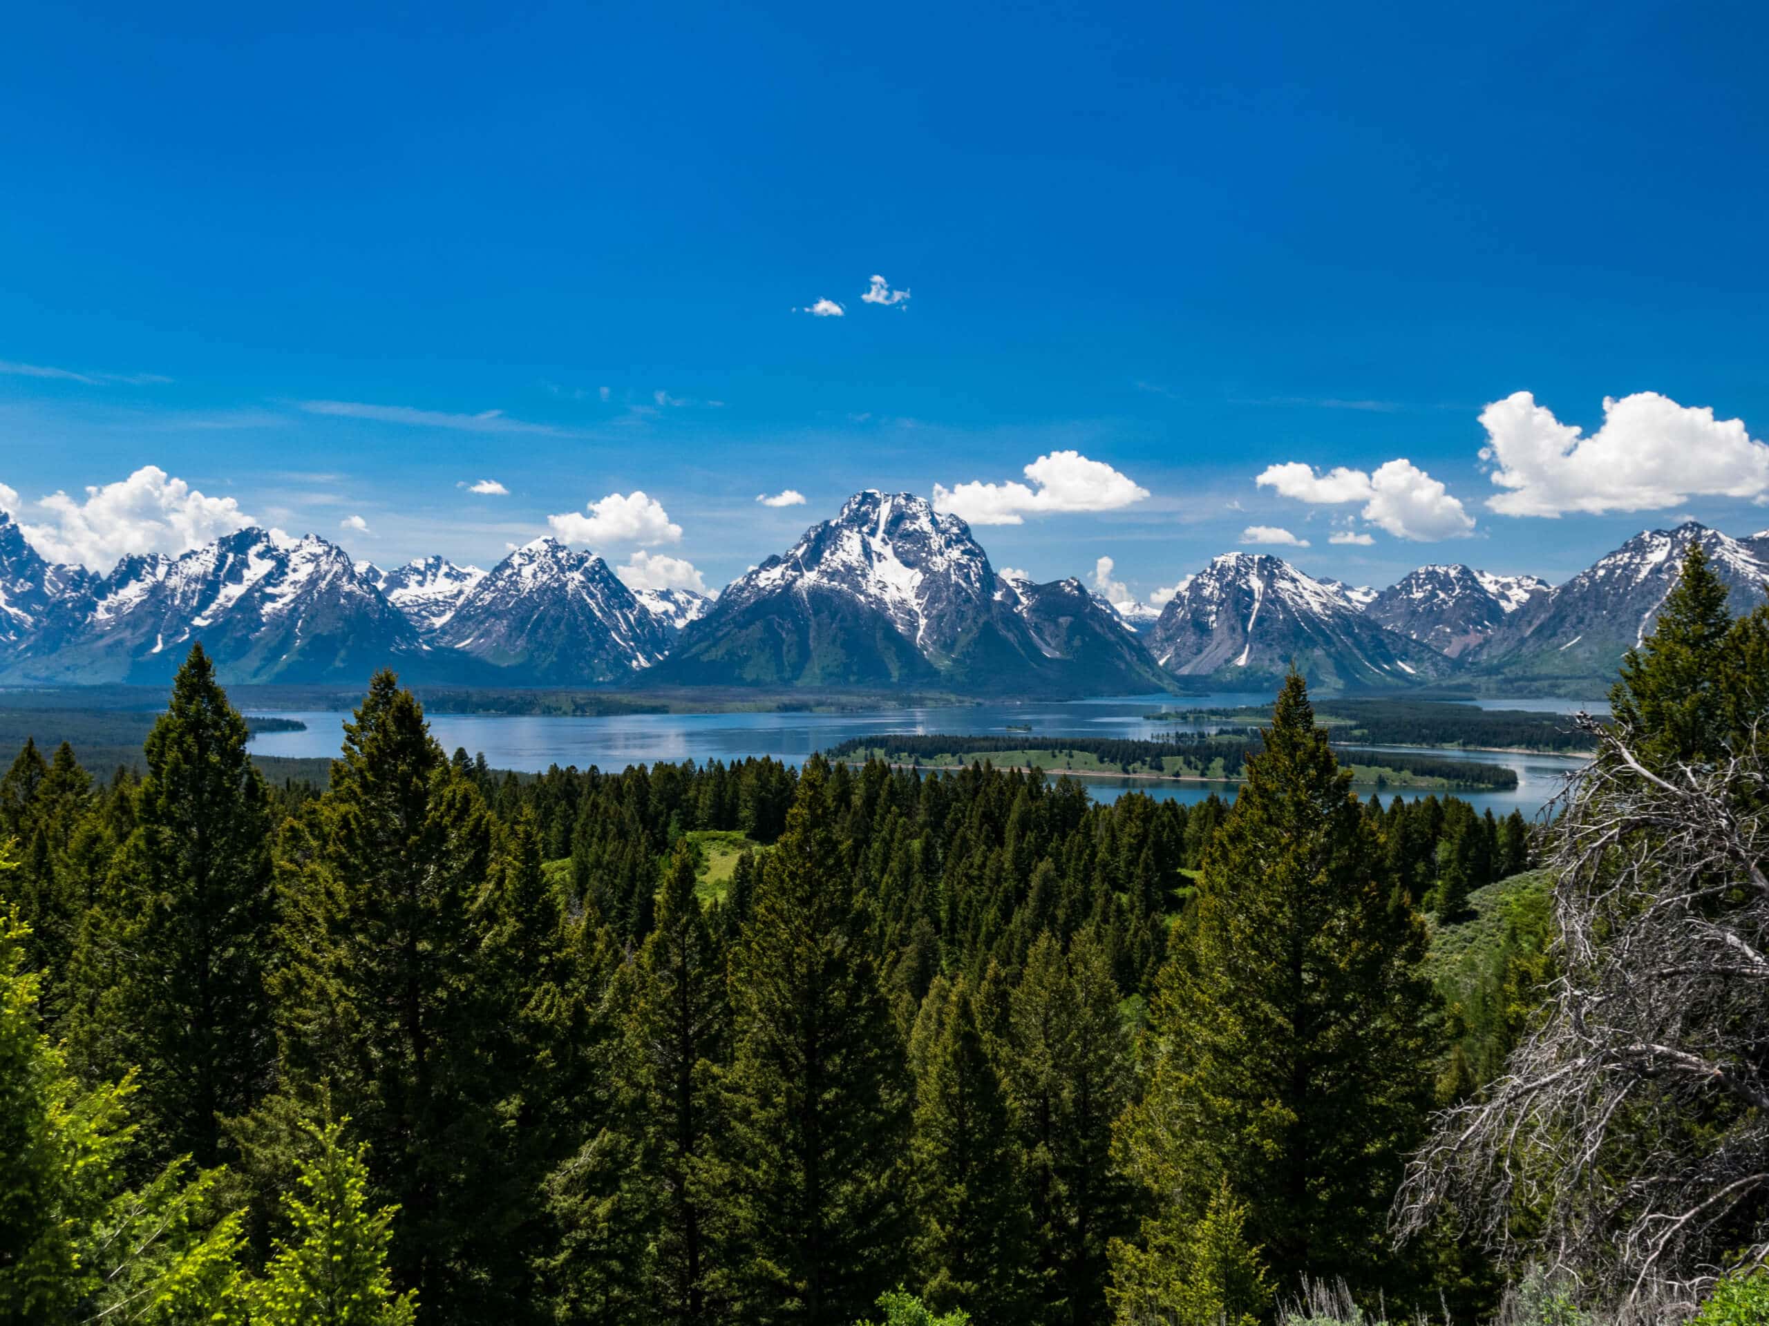
<path fill-rule="evenodd" d="M 605 560 L 548 537 L 486 571 L 433 640 L 518 684 L 587 684 L 649 668 L 672 636 Z"/>

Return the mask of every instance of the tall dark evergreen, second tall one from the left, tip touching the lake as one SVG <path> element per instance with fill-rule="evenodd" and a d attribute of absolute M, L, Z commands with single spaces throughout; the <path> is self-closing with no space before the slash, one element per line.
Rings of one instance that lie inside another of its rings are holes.
<path fill-rule="evenodd" d="M 481 1052 L 497 1006 L 472 918 L 490 824 L 391 672 L 345 725 L 331 787 L 290 847 L 278 992 L 292 1087 L 329 1082 L 368 1144 L 377 1190 L 400 1208 L 398 1282 L 444 1319 L 508 1315 L 520 1285 L 479 1273 L 481 1257 L 509 1254 L 495 1236 L 511 1222 L 508 1190 L 476 1163 L 501 1155 Z"/>

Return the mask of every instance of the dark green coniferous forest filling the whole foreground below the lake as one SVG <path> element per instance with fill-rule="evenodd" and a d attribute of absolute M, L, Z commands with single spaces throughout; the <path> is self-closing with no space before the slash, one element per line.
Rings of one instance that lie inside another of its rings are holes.
<path fill-rule="evenodd" d="M 1769 613 L 1716 585 L 1696 545 L 1543 826 L 1353 794 L 1295 675 L 1192 808 L 823 758 L 502 774 L 387 672 L 324 787 L 269 785 L 193 649 L 143 776 L 27 744 L 0 780 L 0 1321 L 1746 1303 Z M 1654 856 L 1696 804 L 1734 845 Z M 1645 1048 L 1550 1040 L 1569 988 L 1672 979 L 1612 939 L 1675 872 L 1727 994 Z"/>

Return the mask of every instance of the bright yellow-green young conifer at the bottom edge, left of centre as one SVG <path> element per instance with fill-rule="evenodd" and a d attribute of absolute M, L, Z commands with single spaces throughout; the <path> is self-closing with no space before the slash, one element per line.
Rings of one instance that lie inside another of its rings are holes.
<path fill-rule="evenodd" d="M 370 1209 L 366 1147 L 341 1140 L 343 1123 L 306 1126 L 311 1151 L 297 1190 L 283 1193 L 290 1234 L 264 1278 L 246 1291 L 253 1326 L 409 1326 L 417 1301 L 387 1275 L 394 1208 Z"/>

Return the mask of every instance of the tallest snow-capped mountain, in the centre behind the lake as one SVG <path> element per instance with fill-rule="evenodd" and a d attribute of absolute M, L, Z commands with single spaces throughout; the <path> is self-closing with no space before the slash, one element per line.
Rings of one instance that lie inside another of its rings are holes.
<path fill-rule="evenodd" d="M 1097 690 L 1159 684 L 1134 640 L 1129 654 L 1093 649 L 1095 635 L 1127 633 L 1084 591 L 1068 605 L 1042 589 L 998 576 L 959 516 L 915 493 L 867 490 L 731 583 L 656 681 L 1040 693 L 1086 688 L 1090 675 Z M 1134 663 L 1099 674 L 1104 658 Z"/>

